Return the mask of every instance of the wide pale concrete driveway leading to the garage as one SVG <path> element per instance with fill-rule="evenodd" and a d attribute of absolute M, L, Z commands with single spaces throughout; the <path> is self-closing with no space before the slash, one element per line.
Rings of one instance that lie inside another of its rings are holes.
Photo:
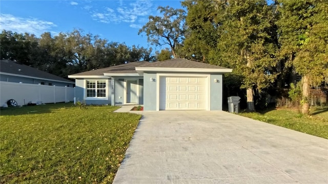
<path fill-rule="evenodd" d="M 328 183 L 328 140 L 223 111 L 142 112 L 118 183 Z"/>

